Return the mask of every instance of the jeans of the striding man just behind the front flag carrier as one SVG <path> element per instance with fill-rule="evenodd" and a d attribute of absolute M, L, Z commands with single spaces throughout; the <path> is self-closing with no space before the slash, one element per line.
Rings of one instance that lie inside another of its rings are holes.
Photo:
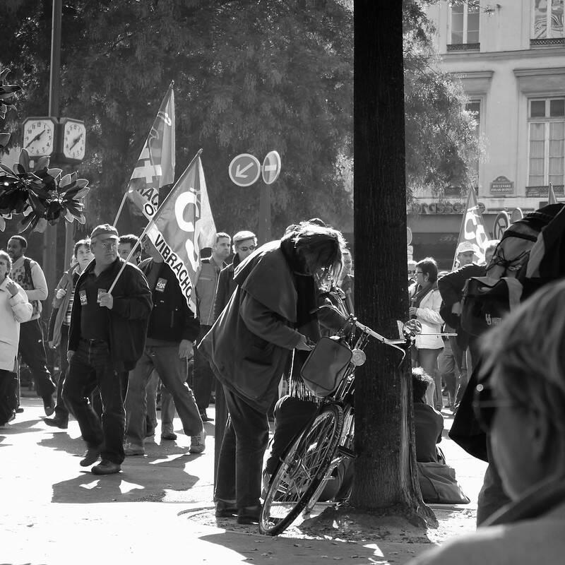
<path fill-rule="evenodd" d="M 128 393 L 126 394 L 126 439 L 132 445 L 143 446 L 145 439 L 145 414 L 147 411 L 146 390 L 153 369 L 157 370 L 163 386 L 171 393 L 174 407 L 179 413 L 182 428 L 187 436 L 196 436 L 203 429 L 202 418 L 198 413 L 194 394 L 186 384 L 186 359 L 179 358 L 179 345 L 147 346 L 138 360 L 136 368 L 129 373 Z M 169 426 L 172 431 L 170 408 L 165 410 L 161 404 L 162 430 Z M 167 417 L 167 412 L 168 417 Z M 167 422 L 168 418 L 168 422 Z"/>

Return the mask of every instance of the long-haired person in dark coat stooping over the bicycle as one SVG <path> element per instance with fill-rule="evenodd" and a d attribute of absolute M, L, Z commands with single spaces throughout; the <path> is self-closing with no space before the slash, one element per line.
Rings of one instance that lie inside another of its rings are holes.
<path fill-rule="evenodd" d="M 319 339 L 316 278 L 337 278 L 344 248 L 340 232 L 304 222 L 256 249 L 236 268 L 236 290 L 198 346 L 222 383 L 230 416 L 216 516 L 258 521 L 267 412 L 292 350 L 311 350 Z"/>

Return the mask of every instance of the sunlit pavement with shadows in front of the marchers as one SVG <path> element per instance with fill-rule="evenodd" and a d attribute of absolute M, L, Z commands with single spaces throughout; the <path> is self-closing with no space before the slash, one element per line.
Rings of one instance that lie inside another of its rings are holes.
<path fill-rule="evenodd" d="M 78 465 L 84 444 L 74 420 L 68 430 L 54 429 L 42 422 L 39 399 L 23 398 L 23 408 L 0 428 L 0 564 L 401 564 L 430 547 L 423 534 L 414 543 L 377 534 L 368 542 L 345 542 L 311 539 L 295 526 L 272 538 L 256 526 L 217 521 L 213 422 L 206 424 L 202 455 L 189 455 L 190 439 L 182 432 L 177 441 L 161 441 L 157 428 L 144 457 L 126 458 L 118 475 L 97 477 Z M 446 528 L 447 535 L 473 529 L 484 473 L 484 463 L 453 442 L 442 447 L 472 504 L 434 507 L 441 527 L 431 540 L 446 537 Z"/>

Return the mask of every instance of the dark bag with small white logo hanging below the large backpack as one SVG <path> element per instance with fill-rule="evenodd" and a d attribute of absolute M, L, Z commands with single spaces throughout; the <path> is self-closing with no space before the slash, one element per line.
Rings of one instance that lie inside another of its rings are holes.
<path fill-rule="evenodd" d="M 520 302 L 522 285 L 516 278 L 472 277 L 463 289 L 461 328 L 482 335 L 496 326 Z"/>

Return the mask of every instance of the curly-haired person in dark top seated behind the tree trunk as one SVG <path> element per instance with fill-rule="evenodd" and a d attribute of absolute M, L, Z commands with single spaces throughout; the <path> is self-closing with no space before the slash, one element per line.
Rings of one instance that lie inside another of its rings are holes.
<path fill-rule="evenodd" d="M 444 431 L 444 417 L 426 403 L 426 391 L 432 382 L 422 367 L 412 369 L 416 460 L 420 463 L 438 462 L 436 444 Z"/>

